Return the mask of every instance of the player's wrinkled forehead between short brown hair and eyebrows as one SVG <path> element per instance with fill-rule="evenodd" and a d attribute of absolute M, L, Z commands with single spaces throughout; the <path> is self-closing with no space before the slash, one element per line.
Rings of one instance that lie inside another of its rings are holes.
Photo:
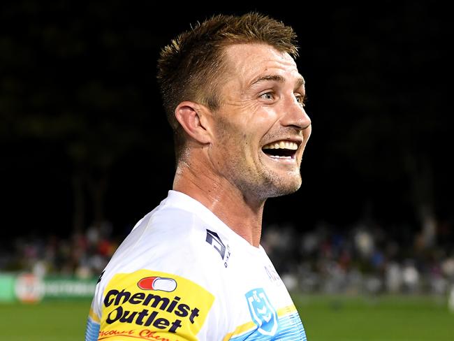
<path fill-rule="evenodd" d="M 295 61 L 286 52 L 266 44 L 236 44 L 225 49 L 228 74 L 243 86 L 263 75 L 281 75 L 292 81 L 300 79 Z M 230 79 L 232 79 L 230 78 Z"/>

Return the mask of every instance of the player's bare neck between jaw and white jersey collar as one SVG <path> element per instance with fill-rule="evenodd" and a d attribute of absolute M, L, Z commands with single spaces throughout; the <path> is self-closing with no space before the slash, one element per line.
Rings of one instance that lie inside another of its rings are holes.
<path fill-rule="evenodd" d="M 260 244 L 265 200 L 248 198 L 226 178 L 185 161 L 177 166 L 173 189 L 202 203 L 249 244 Z"/>

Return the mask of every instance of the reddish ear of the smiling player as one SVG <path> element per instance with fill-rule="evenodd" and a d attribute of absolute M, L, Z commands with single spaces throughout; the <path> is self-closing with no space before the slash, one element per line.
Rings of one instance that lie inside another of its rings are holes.
<path fill-rule="evenodd" d="M 184 131 L 199 143 L 210 143 L 209 110 L 200 104 L 184 101 L 175 109 L 175 118 Z"/>

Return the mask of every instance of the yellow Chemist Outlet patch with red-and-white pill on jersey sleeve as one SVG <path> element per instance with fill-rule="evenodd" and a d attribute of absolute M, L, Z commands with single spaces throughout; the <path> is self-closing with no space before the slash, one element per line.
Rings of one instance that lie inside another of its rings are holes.
<path fill-rule="evenodd" d="M 184 277 L 149 270 L 115 275 L 103 297 L 100 335 L 128 330 L 131 338 L 144 338 L 147 330 L 149 335 L 178 333 L 193 340 L 214 301 L 211 293 Z"/>

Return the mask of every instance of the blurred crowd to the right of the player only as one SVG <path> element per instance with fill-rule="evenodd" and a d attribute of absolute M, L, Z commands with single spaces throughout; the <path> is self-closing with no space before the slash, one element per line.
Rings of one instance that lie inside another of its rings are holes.
<path fill-rule="evenodd" d="M 339 229 L 319 223 L 298 233 L 295 226 L 268 226 L 262 245 L 290 290 L 323 293 L 434 293 L 454 284 L 451 228 L 436 238 L 409 226 L 382 228 L 360 222 Z"/>

